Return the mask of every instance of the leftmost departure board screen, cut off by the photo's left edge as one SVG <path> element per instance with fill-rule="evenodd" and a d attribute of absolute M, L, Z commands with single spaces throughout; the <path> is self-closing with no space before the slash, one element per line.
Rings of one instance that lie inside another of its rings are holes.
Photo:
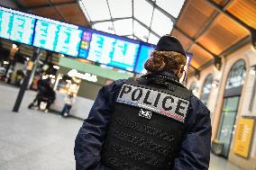
<path fill-rule="evenodd" d="M 0 37 L 32 45 L 35 19 L 0 9 Z"/>

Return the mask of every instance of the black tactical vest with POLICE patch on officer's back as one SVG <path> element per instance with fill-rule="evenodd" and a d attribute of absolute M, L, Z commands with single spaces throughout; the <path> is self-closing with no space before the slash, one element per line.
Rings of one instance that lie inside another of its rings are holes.
<path fill-rule="evenodd" d="M 190 95 L 178 82 L 157 76 L 124 84 L 108 125 L 103 163 L 114 170 L 171 169 Z"/>

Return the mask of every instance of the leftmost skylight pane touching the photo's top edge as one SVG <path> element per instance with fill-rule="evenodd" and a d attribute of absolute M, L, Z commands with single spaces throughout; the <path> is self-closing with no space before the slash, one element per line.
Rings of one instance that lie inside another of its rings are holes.
<path fill-rule="evenodd" d="M 91 21 L 109 20 L 110 13 L 105 0 L 81 0 Z"/>

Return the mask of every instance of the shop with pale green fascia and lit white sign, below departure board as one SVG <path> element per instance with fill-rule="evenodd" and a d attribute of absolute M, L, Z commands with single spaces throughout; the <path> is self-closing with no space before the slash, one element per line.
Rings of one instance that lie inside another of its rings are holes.
<path fill-rule="evenodd" d="M 57 97 L 51 109 L 61 112 L 65 96 L 73 93 L 76 97 L 70 115 L 85 119 L 102 86 L 132 76 L 129 72 L 87 64 L 74 58 L 59 58 L 54 85 Z"/>

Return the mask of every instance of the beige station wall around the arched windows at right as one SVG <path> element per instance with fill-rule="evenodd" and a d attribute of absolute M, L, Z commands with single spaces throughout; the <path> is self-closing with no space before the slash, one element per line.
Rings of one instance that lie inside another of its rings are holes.
<path fill-rule="evenodd" d="M 206 79 L 206 76 L 209 74 L 213 75 L 213 79 L 218 82 L 216 87 L 212 87 L 211 92 L 209 94 L 209 100 L 207 102 L 207 107 L 211 112 L 212 119 L 212 127 L 213 127 L 213 135 L 212 140 L 218 138 L 218 131 L 220 129 L 220 124 L 222 120 L 222 111 L 224 106 L 224 92 L 225 86 L 227 82 L 228 75 L 230 73 L 233 65 L 239 61 L 244 60 L 245 62 L 245 79 L 242 85 L 242 93 L 240 102 L 237 108 L 236 119 L 234 123 L 233 136 L 231 139 L 231 145 L 229 148 L 228 159 L 233 162 L 233 164 L 237 166 L 242 165 L 242 169 L 244 170 L 255 170 L 256 169 L 256 128 L 254 122 L 254 128 L 252 130 L 252 139 L 251 139 L 251 147 L 249 150 L 249 157 L 244 158 L 238 156 L 233 152 L 233 144 L 234 144 L 234 134 L 236 132 L 236 126 L 238 120 L 240 118 L 249 118 L 256 121 L 256 97 L 252 94 L 253 88 L 255 88 L 254 82 L 256 81 L 256 76 L 250 74 L 251 66 L 256 65 L 256 50 L 253 49 L 251 44 L 247 44 L 243 46 L 241 49 L 236 50 L 231 55 L 222 58 L 223 66 L 221 70 L 217 70 L 214 66 L 207 67 L 202 70 L 200 73 L 200 78 L 197 80 L 195 76 L 191 76 L 187 80 L 187 87 L 189 88 L 194 82 L 197 84 L 197 95 L 198 98 L 201 97 L 203 85 Z M 250 111 L 250 103 L 252 103 L 252 108 Z"/>

